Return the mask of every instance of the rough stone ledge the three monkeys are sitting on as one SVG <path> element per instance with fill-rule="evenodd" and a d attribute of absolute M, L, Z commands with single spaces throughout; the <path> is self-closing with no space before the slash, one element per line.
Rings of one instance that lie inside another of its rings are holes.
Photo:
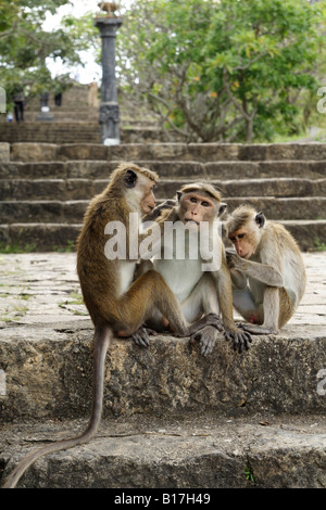
<path fill-rule="evenodd" d="M 0 330 L 7 394 L 3 420 L 88 415 L 91 339 L 88 321 Z M 104 416 L 187 412 L 324 412 L 318 373 L 326 368 L 324 327 L 288 326 L 254 336 L 239 354 L 221 335 L 203 357 L 189 339 L 158 335 L 147 349 L 114 340 L 106 358 Z"/>

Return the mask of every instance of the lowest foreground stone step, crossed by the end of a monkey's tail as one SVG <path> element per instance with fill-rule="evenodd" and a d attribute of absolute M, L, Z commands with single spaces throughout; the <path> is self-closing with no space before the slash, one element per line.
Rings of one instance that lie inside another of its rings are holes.
<path fill-rule="evenodd" d="M 264 412 L 241 418 L 112 418 L 102 421 L 89 444 L 39 459 L 17 487 L 110 488 L 109 505 L 130 503 L 134 496 L 137 505 L 146 496 L 150 507 L 197 501 L 210 502 L 210 508 L 221 498 L 210 489 L 325 488 L 323 421 L 323 416 Z M 26 452 L 71 437 L 85 424 L 24 420 L 5 425 L 0 432 L 3 479 Z"/>

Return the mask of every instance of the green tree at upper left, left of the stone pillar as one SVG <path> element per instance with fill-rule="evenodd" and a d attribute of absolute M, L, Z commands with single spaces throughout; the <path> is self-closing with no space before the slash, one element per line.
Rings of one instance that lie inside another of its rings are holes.
<path fill-rule="evenodd" d="M 25 88 L 34 95 L 65 87 L 52 80 L 47 59 L 79 64 L 78 51 L 87 48 L 85 36 L 68 21 L 57 29 L 42 28 L 48 12 L 54 14 L 67 0 L 0 0 L 0 86 L 10 98 Z"/>

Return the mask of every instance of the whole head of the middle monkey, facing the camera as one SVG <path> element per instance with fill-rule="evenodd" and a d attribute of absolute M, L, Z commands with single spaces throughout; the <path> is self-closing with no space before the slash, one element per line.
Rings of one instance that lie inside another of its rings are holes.
<path fill-rule="evenodd" d="M 197 182 L 184 186 L 177 192 L 178 216 L 184 224 L 199 227 L 201 221 L 213 221 L 221 216 L 226 204 L 221 202 L 221 194 L 209 183 Z"/>

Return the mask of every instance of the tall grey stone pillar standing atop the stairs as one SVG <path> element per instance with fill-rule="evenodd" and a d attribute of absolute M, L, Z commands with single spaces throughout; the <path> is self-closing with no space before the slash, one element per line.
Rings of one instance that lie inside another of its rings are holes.
<path fill-rule="evenodd" d="M 122 25 L 120 17 L 97 17 L 95 25 L 102 38 L 102 87 L 100 105 L 101 143 L 120 143 L 118 104 L 115 79 L 115 37 Z"/>

